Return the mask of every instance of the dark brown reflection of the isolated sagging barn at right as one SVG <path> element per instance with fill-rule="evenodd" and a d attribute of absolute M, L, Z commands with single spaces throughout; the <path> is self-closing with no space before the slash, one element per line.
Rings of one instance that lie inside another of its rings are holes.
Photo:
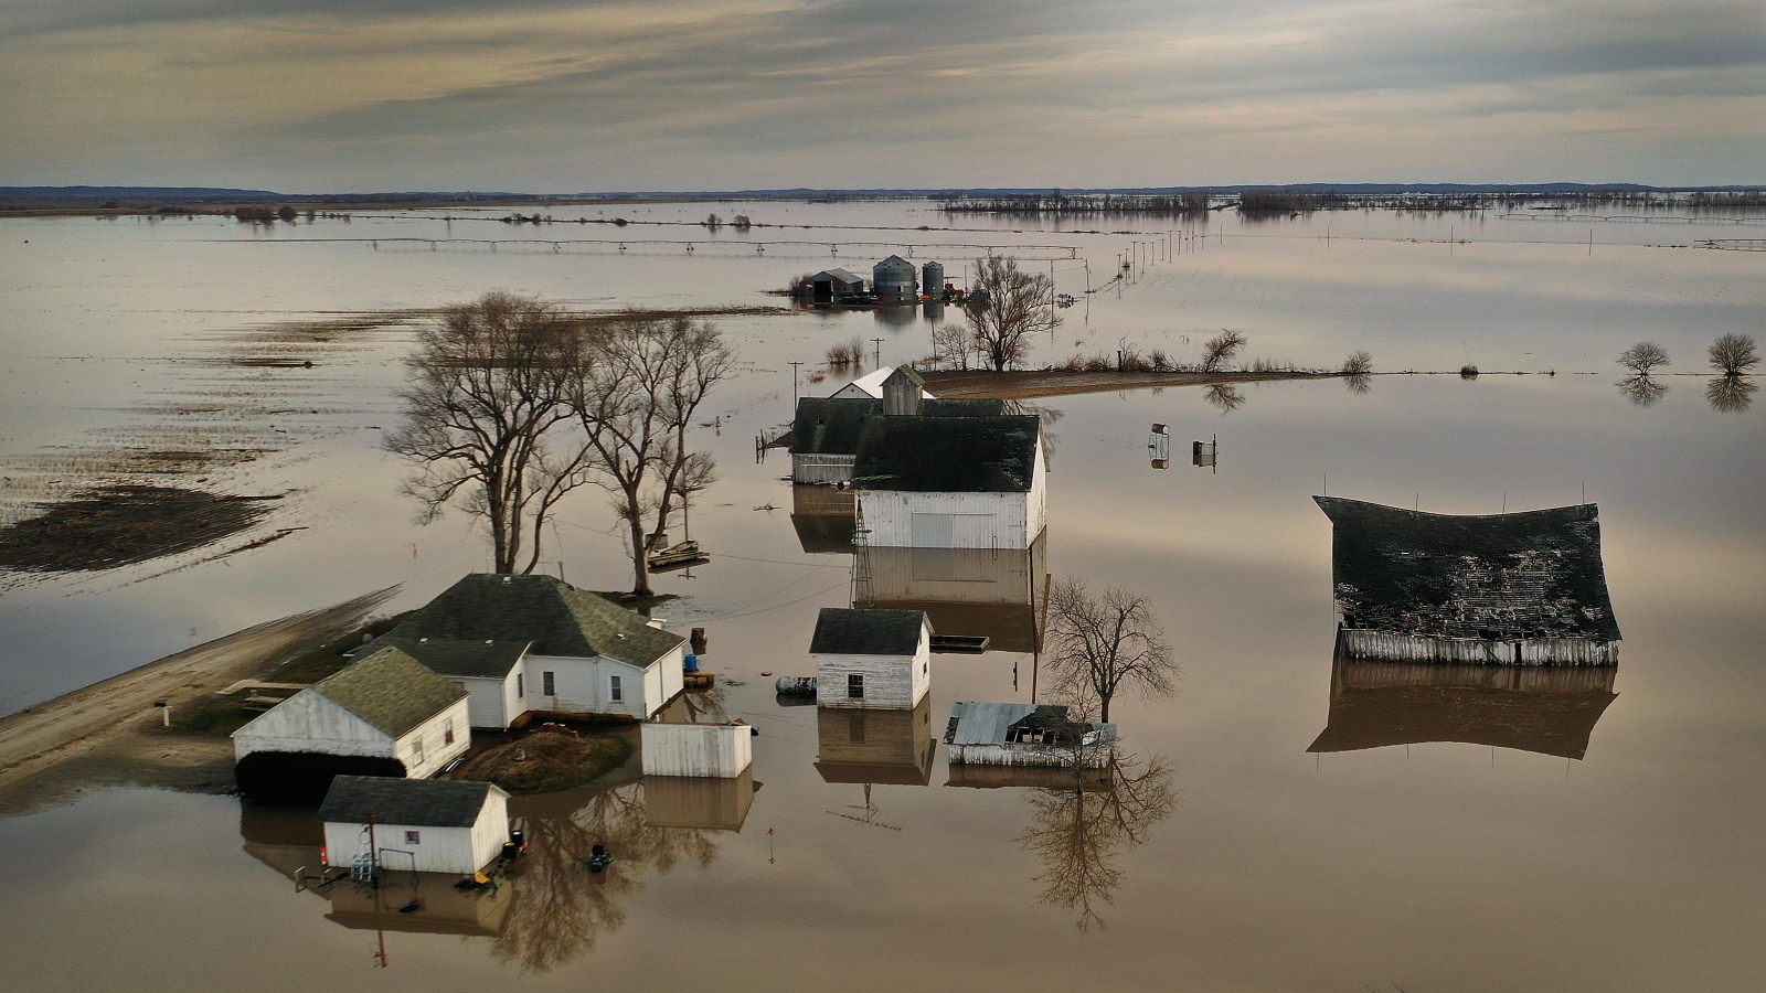
<path fill-rule="evenodd" d="M 1330 719 L 1307 751 L 1423 742 L 1512 747 L 1581 760 L 1616 666 L 1332 664 Z"/>

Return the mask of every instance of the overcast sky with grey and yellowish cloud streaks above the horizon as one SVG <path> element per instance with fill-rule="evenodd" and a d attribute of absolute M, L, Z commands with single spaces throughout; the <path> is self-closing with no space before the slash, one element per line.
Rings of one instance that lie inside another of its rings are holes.
<path fill-rule="evenodd" d="M 0 0 L 0 186 L 1766 182 L 1762 0 Z"/>

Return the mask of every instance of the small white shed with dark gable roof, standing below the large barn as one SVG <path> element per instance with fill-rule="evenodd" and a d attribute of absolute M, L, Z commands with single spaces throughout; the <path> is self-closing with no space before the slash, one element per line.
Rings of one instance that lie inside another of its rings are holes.
<path fill-rule="evenodd" d="M 818 707 L 913 710 L 932 686 L 932 625 L 918 610 L 823 608 L 809 654 Z"/>

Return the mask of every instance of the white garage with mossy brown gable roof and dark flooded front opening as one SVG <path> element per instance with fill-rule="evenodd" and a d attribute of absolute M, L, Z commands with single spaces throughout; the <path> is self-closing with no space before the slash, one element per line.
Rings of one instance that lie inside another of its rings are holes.
<path fill-rule="evenodd" d="M 233 731 L 233 758 L 320 753 L 392 758 L 426 779 L 472 744 L 466 691 L 380 647 Z"/>

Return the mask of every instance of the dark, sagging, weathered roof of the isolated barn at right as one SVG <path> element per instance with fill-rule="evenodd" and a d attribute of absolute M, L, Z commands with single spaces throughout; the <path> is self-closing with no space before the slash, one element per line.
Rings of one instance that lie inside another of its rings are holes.
<path fill-rule="evenodd" d="M 1344 624 L 1441 638 L 1618 641 L 1593 504 L 1450 516 L 1314 496 Z"/>

